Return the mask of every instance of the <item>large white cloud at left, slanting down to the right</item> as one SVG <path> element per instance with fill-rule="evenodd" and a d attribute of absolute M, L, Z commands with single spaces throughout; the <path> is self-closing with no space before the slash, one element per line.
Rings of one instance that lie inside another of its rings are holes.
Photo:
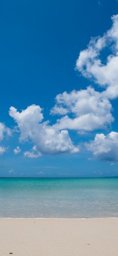
<path fill-rule="evenodd" d="M 79 152 L 79 148 L 73 145 L 67 130 L 59 131 L 51 127 L 49 121 L 42 122 L 43 114 L 39 106 L 31 105 L 21 113 L 11 107 L 9 113 L 20 129 L 20 142 L 30 140 L 36 145 L 39 153 Z M 28 155 L 29 152 L 26 153 L 26 156 Z"/>

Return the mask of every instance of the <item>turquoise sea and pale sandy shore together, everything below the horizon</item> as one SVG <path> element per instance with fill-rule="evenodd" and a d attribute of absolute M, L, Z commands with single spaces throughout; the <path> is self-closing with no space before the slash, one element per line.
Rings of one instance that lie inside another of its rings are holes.
<path fill-rule="evenodd" d="M 0 256 L 118 256 L 118 178 L 0 178 Z"/>

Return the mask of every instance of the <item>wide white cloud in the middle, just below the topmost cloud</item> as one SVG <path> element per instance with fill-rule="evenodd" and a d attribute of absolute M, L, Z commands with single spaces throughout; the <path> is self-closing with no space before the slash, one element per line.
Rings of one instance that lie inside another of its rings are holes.
<path fill-rule="evenodd" d="M 101 92 L 95 91 L 92 87 L 70 93 L 63 92 L 55 99 L 56 104 L 51 113 L 63 115 L 65 111 L 72 113 L 74 117 L 69 118 L 66 115 L 58 119 L 54 128 L 92 131 L 105 128 L 114 120 L 111 103 Z"/>

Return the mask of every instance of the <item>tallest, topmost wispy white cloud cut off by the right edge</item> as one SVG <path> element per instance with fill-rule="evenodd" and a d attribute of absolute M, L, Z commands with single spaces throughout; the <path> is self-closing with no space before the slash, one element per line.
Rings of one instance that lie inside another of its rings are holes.
<path fill-rule="evenodd" d="M 93 78 L 101 87 L 107 88 L 104 94 L 109 99 L 118 97 L 118 15 L 113 15 L 112 20 L 111 29 L 102 37 L 92 38 L 76 62 L 76 69 L 84 77 Z M 106 47 L 109 54 L 104 63 L 100 54 Z"/>

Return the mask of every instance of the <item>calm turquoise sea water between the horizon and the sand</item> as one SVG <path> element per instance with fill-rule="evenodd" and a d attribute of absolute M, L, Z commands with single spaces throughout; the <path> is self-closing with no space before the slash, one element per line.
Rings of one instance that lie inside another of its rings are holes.
<path fill-rule="evenodd" d="M 118 217 L 118 178 L 0 178 L 0 217 Z"/>

